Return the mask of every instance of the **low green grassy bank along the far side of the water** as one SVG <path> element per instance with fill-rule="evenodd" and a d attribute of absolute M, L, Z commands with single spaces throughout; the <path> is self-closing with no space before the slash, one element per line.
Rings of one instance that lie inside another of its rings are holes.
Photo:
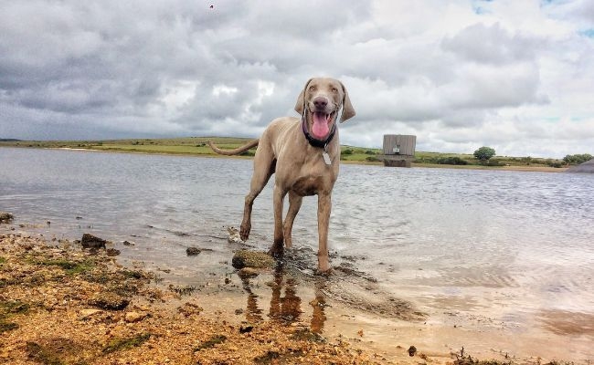
<path fill-rule="evenodd" d="M 104 141 L 0 141 L 0 147 L 72 149 L 131 153 L 158 153 L 204 157 L 225 157 L 213 152 L 207 141 L 214 141 L 222 149 L 234 149 L 251 141 L 249 138 L 186 137 L 173 139 L 128 139 Z M 382 165 L 378 155 L 381 149 L 342 145 L 341 162 Z M 251 158 L 255 149 L 236 158 Z M 565 172 L 567 164 L 561 159 L 534 157 L 494 156 L 489 162 L 480 162 L 470 153 L 440 153 L 417 151 L 413 167 L 453 168 L 475 170 L 508 170 L 527 172 Z"/>

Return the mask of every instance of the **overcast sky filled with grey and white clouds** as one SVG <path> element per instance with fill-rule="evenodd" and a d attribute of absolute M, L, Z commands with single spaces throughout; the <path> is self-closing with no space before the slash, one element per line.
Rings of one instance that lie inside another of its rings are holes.
<path fill-rule="evenodd" d="M 317 76 L 342 144 L 594 154 L 591 0 L 0 0 L 0 138 L 256 138 Z"/>

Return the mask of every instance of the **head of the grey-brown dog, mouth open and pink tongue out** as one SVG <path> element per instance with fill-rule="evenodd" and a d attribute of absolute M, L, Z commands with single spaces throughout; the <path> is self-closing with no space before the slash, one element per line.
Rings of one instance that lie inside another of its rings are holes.
<path fill-rule="evenodd" d="M 295 110 L 302 115 L 305 113 L 309 130 L 319 140 L 330 133 L 341 108 L 341 122 L 355 116 L 345 86 L 334 78 L 310 78 L 295 104 Z"/>

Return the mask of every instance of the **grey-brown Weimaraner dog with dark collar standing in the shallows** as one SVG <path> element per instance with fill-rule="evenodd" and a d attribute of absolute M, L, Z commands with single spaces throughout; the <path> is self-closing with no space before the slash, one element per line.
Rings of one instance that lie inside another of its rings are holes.
<path fill-rule="evenodd" d="M 258 146 L 254 157 L 254 173 L 245 199 L 239 235 L 247 240 L 251 229 L 251 208 L 270 176 L 274 173 L 274 243 L 270 254 L 282 255 L 283 241 L 292 246 L 292 224 L 302 205 L 302 197 L 318 195 L 318 270 L 330 269 L 328 263 L 328 224 L 332 207 L 331 195 L 338 177 L 340 142 L 336 122 L 355 116 L 345 86 L 334 78 L 311 78 L 297 98 L 295 110 L 301 119 L 282 117 L 272 120 L 260 139 L 249 141 L 235 150 L 219 154 L 234 155 Z M 282 223 L 282 203 L 289 193 L 289 211 Z"/>

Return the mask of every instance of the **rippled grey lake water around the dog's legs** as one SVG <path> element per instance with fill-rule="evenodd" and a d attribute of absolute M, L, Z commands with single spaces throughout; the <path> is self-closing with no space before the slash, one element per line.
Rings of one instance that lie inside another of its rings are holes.
<path fill-rule="evenodd" d="M 381 342 L 389 320 L 410 319 L 398 317 L 406 304 L 433 333 L 465 328 L 456 335 L 465 343 L 487 331 L 523 356 L 557 356 L 553 344 L 572 360 L 594 358 L 594 176 L 342 165 L 329 236 L 342 271 L 325 284 L 312 276 L 315 197 L 294 224 L 294 262 L 270 277 L 234 276 L 242 245 L 228 244 L 227 227 L 241 221 L 250 176 L 248 160 L 1 148 L 0 211 L 27 231 L 100 235 L 122 259 L 171 270 L 168 280 L 207 295 L 230 278 L 228 307 L 247 299 L 246 317 L 283 318 L 285 303 L 294 312 L 285 318 L 311 318 L 325 333 L 365 325 Z M 271 208 L 269 183 L 254 204 L 253 248 L 270 245 Z M 190 245 L 212 251 L 188 257 Z M 324 297 L 337 305 L 315 305 Z"/>

